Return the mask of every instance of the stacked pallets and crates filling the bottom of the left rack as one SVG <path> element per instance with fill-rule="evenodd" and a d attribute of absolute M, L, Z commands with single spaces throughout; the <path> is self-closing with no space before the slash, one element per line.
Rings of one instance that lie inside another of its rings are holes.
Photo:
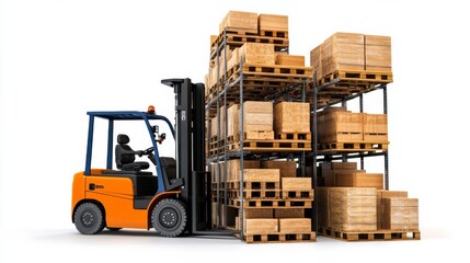
<path fill-rule="evenodd" d="M 296 165 L 295 161 L 245 160 L 241 173 L 238 159 L 211 164 L 214 174 L 228 170 L 227 178 L 213 179 L 214 226 L 240 230 L 242 215 L 242 238 L 248 243 L 314 241 L 306 213 L 312 208 L 312 183 L 310 178 L 296 176 Z"/>

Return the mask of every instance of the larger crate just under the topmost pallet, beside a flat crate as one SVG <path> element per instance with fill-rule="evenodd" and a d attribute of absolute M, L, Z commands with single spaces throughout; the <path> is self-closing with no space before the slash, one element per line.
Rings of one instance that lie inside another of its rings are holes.
<path fill-rule="evenodd" d="M 244 65 L 275 65 L 274 44 L 245 43 L 239 49 Z"/>

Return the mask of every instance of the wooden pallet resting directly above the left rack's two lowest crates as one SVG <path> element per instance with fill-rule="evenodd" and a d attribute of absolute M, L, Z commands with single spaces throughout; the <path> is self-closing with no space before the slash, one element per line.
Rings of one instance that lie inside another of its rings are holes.
<path fill-rule="evenodd" d="M 241 206 L 241 199 L 229 199 L 229 205 L 233 207 Z M 311 208 L 312 201 L 306 199 L 244 199 L 244 208 Z"/>

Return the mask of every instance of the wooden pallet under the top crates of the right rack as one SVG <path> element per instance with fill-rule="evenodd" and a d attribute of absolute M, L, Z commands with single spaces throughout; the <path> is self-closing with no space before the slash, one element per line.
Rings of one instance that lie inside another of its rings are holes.
<path fill-rule="evenodd" d="M 393 82 L 391 71 L 372 71 L 372 70 L 336 70 L 321 78 L 319 85 L 331 82 L 340 78 L 343 83 L 346 82 L 366 82 L 366 83 L 391 83 Z"/>

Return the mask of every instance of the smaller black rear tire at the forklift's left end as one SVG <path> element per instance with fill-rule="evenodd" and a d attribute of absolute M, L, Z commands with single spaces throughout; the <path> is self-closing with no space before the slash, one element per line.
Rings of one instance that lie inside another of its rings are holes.
<path fill-rule="evenodd" d="M 83 203 L 73 216 L 77 230 L 83 235 L 95 235 L 104 228 L 104 216 L 100 207 L 93 203 Z"/>

